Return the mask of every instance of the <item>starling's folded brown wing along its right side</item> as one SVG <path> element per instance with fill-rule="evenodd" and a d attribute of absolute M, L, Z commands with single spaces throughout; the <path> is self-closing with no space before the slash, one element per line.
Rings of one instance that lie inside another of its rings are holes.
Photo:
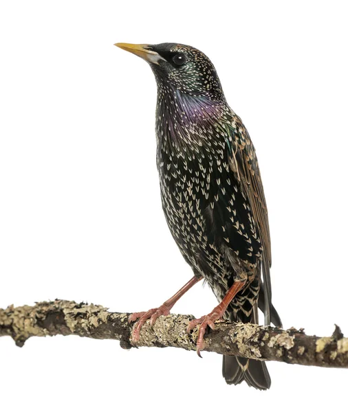
<path fill-rule="evenodd" d="M 234 113 L 232 113 L 227 131 L 226 138 L 228 141 L 226 141 L 226 144 L 228 146 L 230 170 L 248 199 L 252 218 L 254 218 L 261 238 L 265 324 L 270 324 L 272 299 L 270 282 L 270 267 L 272 264 L 270 227 L 268 225 L 268 211 L 257 156 L 248 131 L 241 122 L 241 119 Z"/>

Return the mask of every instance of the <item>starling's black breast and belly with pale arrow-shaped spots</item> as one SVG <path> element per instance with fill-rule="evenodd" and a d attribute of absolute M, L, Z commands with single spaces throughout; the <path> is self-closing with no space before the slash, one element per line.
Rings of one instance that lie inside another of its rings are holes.
<path fill-rule="evenodd" d="M 162 207 L 172 236 L 192 266 L 227 279 L 258 264 L 261 241 L 221 130 L 211 123 L 182 130 L 166 116 L 156 122 Z"/>

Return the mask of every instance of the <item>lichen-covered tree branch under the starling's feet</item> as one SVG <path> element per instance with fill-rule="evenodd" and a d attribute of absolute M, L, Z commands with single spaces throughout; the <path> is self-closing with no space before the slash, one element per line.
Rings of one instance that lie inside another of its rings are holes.
<path fill-rule="evenodd" d="M 121 347 L 133 347 L 130 341 L 133 325 L 129 313 L 108 312 L 98 305 L 76 304 L 55 300 L 35 306 L 0 309 L 0 336 L 12 336 L 22 347 L 31 336 L 77 335 L 94 339 L 116 339 Z M 195 350 L 197 329 L 186 333 L 193 317 L 171 314 L 160 317 L 153 328 L 147 322 L 137 346 L 181 347 Z M 303 330 L 281 330 L 219 321 L 204 340 L 204 350 L 218 354 L 238 355 L 262 361 L 279 361 L 297 365 L 348 367 L 348 339 L 336 326 L 330 337 L 307 336 Z"/>

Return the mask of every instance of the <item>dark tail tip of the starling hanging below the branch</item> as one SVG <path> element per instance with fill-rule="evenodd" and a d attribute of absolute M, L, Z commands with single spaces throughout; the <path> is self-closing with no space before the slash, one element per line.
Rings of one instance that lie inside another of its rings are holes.
<path fill-rule="evenodd" d="M 222 374 L 228 385 L 238 385 L 245 380 L 250 387 L 270 389 L 271 378 L 267 367 L 262 361 L 224 355 Z"/>

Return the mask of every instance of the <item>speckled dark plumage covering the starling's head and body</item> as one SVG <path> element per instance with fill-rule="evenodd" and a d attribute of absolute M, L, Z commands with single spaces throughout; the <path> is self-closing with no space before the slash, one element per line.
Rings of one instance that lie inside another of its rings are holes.
<path fill-rule="evenodd" d="M 163 47 L 170 46 L 152 49 Z M 171 51 L 190 56 L 193 69 L 186 69 L 190 81 L 182 81 L 176 80 L 177 71 L 166 76 L 153 66 L 164 214 L 186 262 L 219 300 L 236 276 L 248 275 L 249 287 L 231 308 L 235 319 L 247 321 L 259 292 L 262 255 L 270 265 L 268 219 L 260 222 L 261 235 L 249 200 L 255 197 L 248 187 L 253 180 L 256 187 L 251 190 L 259 196 L 255 201 L 267 214 L 254 147 L 241 119 L 229 108 L 210 60 L 188 46 L 172 45 Z"/>

